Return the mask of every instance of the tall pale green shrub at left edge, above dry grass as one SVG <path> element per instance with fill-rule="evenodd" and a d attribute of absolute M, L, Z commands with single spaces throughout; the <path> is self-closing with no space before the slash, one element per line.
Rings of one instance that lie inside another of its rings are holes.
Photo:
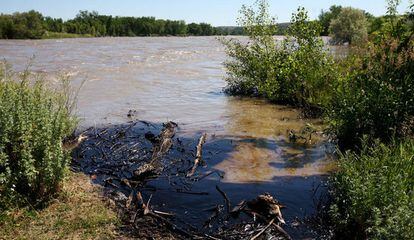
<path fill-rule="evenodd" d="M 15 74 L 6 65 L 0 71 L 0 202 L 21 196 L 36 203 L 58 190 L 67 170 L 62 140 L 76 125 L 72 97 L 67 78 L 53 89 L 41 76 Z"/>

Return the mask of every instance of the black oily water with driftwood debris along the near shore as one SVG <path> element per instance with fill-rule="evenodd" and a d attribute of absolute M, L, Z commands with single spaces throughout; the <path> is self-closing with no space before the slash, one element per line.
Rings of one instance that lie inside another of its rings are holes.
<path fill-rule="evenodd" d="M 206 143 L 200 146 L 198 137 L 182 136 L 179 130 L 175 134 L 177 127 L 171 122 L 161 125 L 132 121 L 91 128 L 82 133 L 88 140 L 74 153 L 74 168 L 104 187 L 113 206 L 120 209 L 118 212 L 121 212 L 125 228 L 134 236 L 250 238 L 267 222 L 252 222 L 249 214 L 241 213 L 239 216 L 238 212 L 235 215 L 229 211 L 266 192 L 284 206 L 285 222 L 278 224 L 282 230 L 269 228 L 267 234 L 281 239 L 286 239 L 283 229 L 286 229 L 286 236 L 293 239 L 327 234 L 321 233 L 319 226 L 311 224 L 311 217 L 316 214 L 315 205 L 321 204 L 321 196 L 326 194 L 321 183 L 323 177 L 286 176 L 275 177 L 274 182 L 267 183 L 257 180 L 231 182 L 229 179 L 235 175 L 240 178 L 247 174 L 249 179 L 253 179 L 251 174 L 254 172 L 243 173 L 239 169 L 220 171 L 214 166 L 231 154 L 234 142 L 252 140 L 207 136 Z M 169 140 L 163 136 L 166 131 L 173 131 Z M 169 143 L 167 148 L 164 147 L 165 142 Z M 157 147 L 157 144 L 161 145 Z M 198 154 L 202 155 L 199 165 L 195 163 Z M 154 156 L 157 159 L 154 160 Z M 254 163 L 244 164 L 246 168 L 255 168 Z M 266 175 L 266 172 L 262 173 Z M 151 205 L 148 208 L 151 209 L 150 215 L 141 216 L 142 204 Z M 250 230 L 246 230 L 247 225 Z M 169 230 L 164 231 L 164 227 Z"/>

